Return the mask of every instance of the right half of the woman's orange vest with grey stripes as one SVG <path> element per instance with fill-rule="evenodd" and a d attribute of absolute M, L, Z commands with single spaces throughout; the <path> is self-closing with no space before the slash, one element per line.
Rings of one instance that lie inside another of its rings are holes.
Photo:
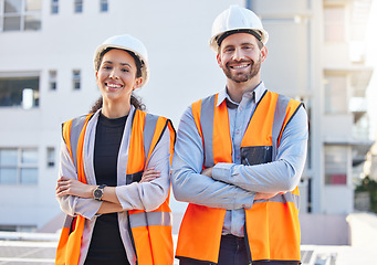
<path fill-rule="evenodd" d="M 136 110 L 133 118 L 128 151 L 133 156 L 128 156 L 126 172 L 127 181 L 130 182 L 140 180 L 143 171 L 147 167 L 145 161 L 149 161 L 153 149 L 160 140 L 165 129 L 170 130 L 170 157 L 172 157 L 175 141 L 175 131 L 170 120 L 140 110 Z M 144 139 L 147 139 L 147 141 L 144 142 Z M 148 145 L 150 148 L 147 147 Z M 129 176 L 133 176 L 133 178 Z M 136 250 L 137 264 L 169 265 L 174 263 L 169 197 L 155 211 L 128 211 L 128 221 L 130 237 Z"/>

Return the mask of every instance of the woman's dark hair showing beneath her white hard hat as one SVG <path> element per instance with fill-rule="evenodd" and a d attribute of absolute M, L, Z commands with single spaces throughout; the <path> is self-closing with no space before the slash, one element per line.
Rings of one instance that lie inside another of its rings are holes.
<path fill-rule="evenodd" d="M 105 53 L 114 50 L 116 47 L 107 47 L 104 51 L 101 52 L 98 60 L 96 62 L 96 71 L 100 70 L 101 66 L 101 62 L 102 59 L 104 57 Z M 133 52 L 130 51 L 126 51 L 130 56 L 133 56 L 135 64 L 136 64 L 136 77 L 142 77 L 142 66 L 143 66 L 143 62 L 140 61 L 140 59 Z M 140 110 L 145 110 L 146 106 L 142 103 L 142 99 L 139 97 L 136 97 L 135 95 L 130 95 L 130 104 L 136 108 L 136 109 L 140 109 Z M 103 98 L 102 96 L 94 103 L 94 105 L 91 108 L 90 113 L 95 113 L 97 112 L 100 108 L 102 108 L 103 105 Z"/>

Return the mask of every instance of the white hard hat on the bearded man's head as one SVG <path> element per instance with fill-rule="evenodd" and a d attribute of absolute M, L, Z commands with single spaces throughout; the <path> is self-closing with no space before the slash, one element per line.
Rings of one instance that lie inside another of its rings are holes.
<path fill-rule="evenodd" d="M 253 34 L 263 45 L 269 41 L 269 33 L 263 29 L 261 20 L 253 11 L 239 6 L 230 6 L 229 9 L 222 11 L 213 21 L 212 36 L 209 41 L 210 47 L 218 52 L 221 41 L 237 32 Z"/>

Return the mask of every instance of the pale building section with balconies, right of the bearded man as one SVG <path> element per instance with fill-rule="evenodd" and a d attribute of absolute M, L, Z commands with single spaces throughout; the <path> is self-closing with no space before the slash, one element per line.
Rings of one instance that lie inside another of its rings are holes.
<path fill-rule="evenodd" d="M 371 1 L 249 4 L 271 35 L 263 80 L 268 87 L 305 102 L 310 114 L 308 158 L 301 182 L 303 242 L 346 244 L 353 179 L 363 173 L 373 145 L 366 98 L 373 68 L 365 62 Z"/>

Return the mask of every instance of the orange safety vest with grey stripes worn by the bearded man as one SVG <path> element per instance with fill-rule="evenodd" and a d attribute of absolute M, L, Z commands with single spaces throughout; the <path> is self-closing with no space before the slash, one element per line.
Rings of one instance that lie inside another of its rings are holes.
<path fill-rule="evenodd" d="M 218 162 L 232 163 L 232 142 L 226 100 L 218 94 L 191 105 L 205 150 L 203 169 Z M 266 92 L 259 102 L 241 142 L 242 165 L 275 160 L 281 135 L 302 104 Z M 255 200 L 245 209 L 245 242 L 249 261 L 296 261 L 300 254 L 299 188 L 269 200 Z M 181 222 L 178 258 L 218 263 L 224 209 L 190 203 Z"/>

